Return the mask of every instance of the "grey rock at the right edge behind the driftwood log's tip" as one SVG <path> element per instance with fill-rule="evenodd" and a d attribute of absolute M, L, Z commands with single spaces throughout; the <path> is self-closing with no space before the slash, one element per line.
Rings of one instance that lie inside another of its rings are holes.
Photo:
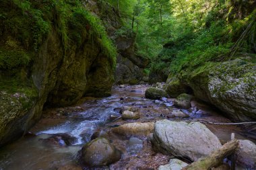
<path fill-rule="evenodd" d="M 241 165 L 246 165 L 250 169 L 256 169 L 256 144 L 250 140 L 239 140 L 236 158 L 237 162 Z"/>

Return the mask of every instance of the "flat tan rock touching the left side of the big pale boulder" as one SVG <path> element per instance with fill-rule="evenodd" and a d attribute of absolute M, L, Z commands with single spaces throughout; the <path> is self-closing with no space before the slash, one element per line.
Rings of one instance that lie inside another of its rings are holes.
<path fill-rule="evenodd" d="M 121 135 L 145 135 L 148 136 L 150 133 L 152 133 L 154 130 L 154 123 L 148 122 L 148 123 L 141 123 L 141 122 L 135 122 L 135 123 L 129 123 L 129 124 L 123 124 L 121 126 L 118 126 L 116 128 L 113 128 L 112 131 L 121 134 Z"/>

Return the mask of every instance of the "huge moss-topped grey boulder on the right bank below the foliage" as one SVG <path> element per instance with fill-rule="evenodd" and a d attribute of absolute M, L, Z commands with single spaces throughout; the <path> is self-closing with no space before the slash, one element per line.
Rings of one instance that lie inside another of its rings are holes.
<path fill-rule="evenodd" d="M 193 71 L 170 76 L 166 91 L 177 95 L 186 87 L 195 97 L 212 103 L 235 121 L 256 120 L 256 64 L 236 59 L 207 62 Z M 181 89 L 181 90 L 180 90 Z"/>

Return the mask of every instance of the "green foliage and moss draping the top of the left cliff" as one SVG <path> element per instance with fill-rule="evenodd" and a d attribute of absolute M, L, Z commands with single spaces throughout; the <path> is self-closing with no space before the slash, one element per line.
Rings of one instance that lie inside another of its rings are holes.
<path fill-rule="evenodd" d="M 73 45 L 81 48 L 89 40 L 98 43 L 115 65 L 117 50 L 113 42 L 100 19 L 86 11 L 80 0 L 3 0 L 0 13 L 0 35 L 15 38 L 24 50 L 38 52 L 49 32 L 56 30 L 65 50 Z M 1 67 L 27 65 L 31 58 L 25 53 L 15 48 L 2 50 Z"/>

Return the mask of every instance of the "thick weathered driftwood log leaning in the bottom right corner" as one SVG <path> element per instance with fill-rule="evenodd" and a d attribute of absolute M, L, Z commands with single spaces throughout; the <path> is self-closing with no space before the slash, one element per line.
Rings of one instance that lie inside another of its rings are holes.
<path fill-rule="evenodd" d="M 237 147 L 238 140 L 233 139 L 218 148 L 216 151 L 213 151 L 207 157 L 200 158 L 196 162 L 187 165 L 183 170 L 206 170 L 211 169 L 212 167 L 217 167 L 223 163 L 223 159 L 228 157 L 228 155 L 231 155 Z"/>

